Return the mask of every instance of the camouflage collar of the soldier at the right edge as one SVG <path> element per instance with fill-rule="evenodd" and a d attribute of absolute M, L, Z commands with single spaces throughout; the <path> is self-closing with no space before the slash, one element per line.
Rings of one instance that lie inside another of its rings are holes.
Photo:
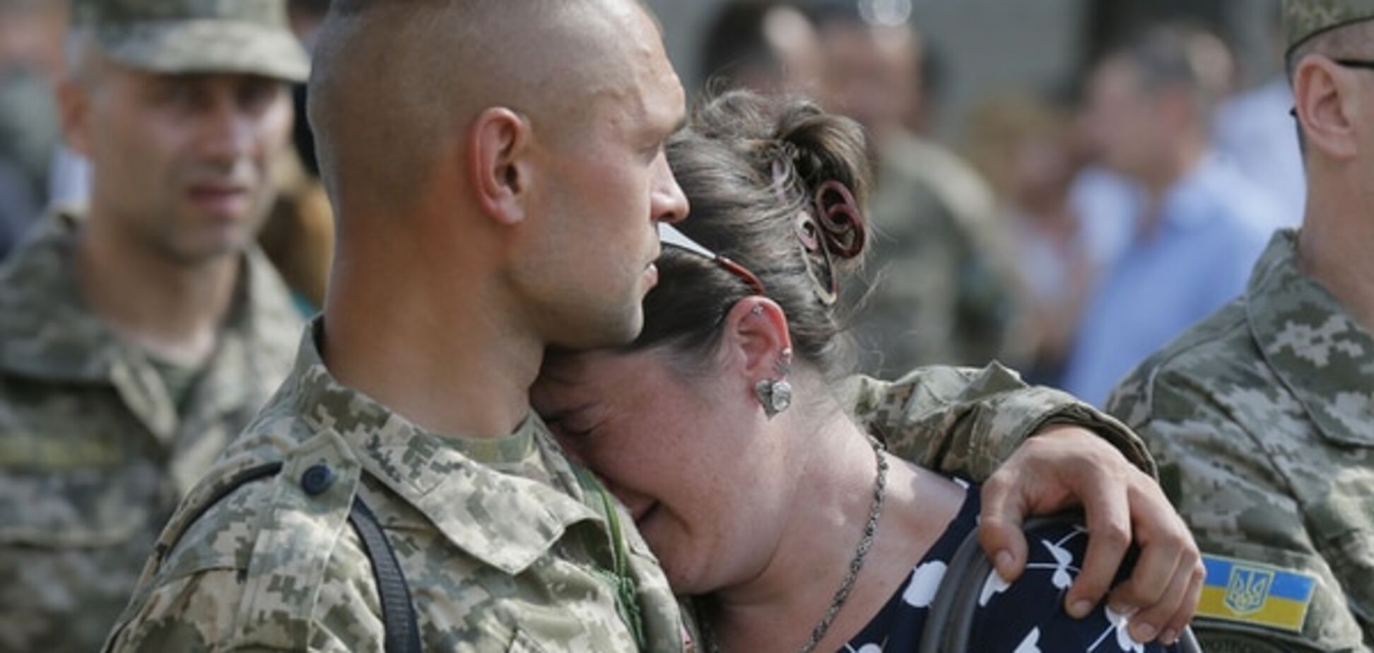
<path fill-rule="evenodd" d="M 1297 232 L 1274 235 L 1246 290 L 1265 362 L 1330 440 L 1374 445 L 1374 334 L 1297 268 Z"/>

